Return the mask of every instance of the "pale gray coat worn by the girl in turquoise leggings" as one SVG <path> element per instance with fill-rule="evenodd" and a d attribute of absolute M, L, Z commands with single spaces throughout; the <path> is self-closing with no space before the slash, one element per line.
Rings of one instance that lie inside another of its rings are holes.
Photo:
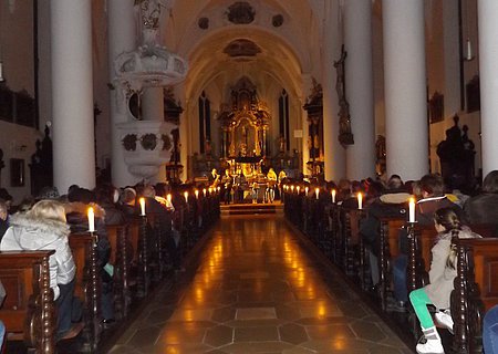
<path fill-rule="evenodd" d="M 458 232 L 458 238 L 480 238 L 480 236 L 471 232 L 469 228 L 464 227 Z M 425 287 L 425 292 L 437 309 L 449 309 L 449 295 L 454 289 L 453 281 L 457 275 L 456 269 L 447 266 L 450 247 L 452 232 L 446 232 L 437 237 L 436 243 L 432 249 L 430 283 Z"/>

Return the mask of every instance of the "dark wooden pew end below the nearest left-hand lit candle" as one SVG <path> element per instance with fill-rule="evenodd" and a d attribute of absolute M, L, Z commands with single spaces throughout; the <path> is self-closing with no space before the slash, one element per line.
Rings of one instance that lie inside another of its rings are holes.
<path fill-rule="evenodd" d="M 69 237 L 76 264 L 74 296 L 80 298 L 83 303 L 85 346 L 92 351 L 97 348 L 102 333 L 102 283 L 97 270 L 96 238 L 96 235 L 90 232 L 71 233 Z"/>

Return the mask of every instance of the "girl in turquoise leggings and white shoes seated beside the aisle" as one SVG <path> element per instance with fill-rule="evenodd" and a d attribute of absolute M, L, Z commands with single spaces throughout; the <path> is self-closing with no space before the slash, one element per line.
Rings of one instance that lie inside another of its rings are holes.
<path fill-rule="evenodd" d="M 440 312 L 436 313 L 438 322 L 453 333 L 453 320 L 449 314 L 449 296 L 454 289 L 456 271 L 456 248 L 452 239 L 479 238 L 480 236 L 470 231 L 461 225 L 457 214 L 452 208 L 438 209 L 434 214 L 434 226 L 438 232 L 436 243 L 433 246 L 429 269 L 430 283 L 424 288 L 409 293 L 415 314 L 421 322 L 422 332 L 426 339 L 425 343 L 418 343 L 417 353 L 444 354 L 443 344 L 437 333 L 427 305 L 436 306 Z"/>

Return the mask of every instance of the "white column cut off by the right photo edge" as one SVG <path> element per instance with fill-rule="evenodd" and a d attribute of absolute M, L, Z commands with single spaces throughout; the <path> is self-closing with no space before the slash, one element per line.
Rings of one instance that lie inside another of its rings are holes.
<path fill-rule="evenodd" d="M 483 142 L 483 175 L 498 169 L 498 1 L 477 2 L 480 67 L 480 132 Z"/>

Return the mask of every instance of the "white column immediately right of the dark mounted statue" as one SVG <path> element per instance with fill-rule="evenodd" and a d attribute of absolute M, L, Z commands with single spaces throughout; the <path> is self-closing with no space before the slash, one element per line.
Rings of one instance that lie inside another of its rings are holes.
<path fill-rule="evenodd" d="M 346 176 L 375 176 L 375 126 L 372 67 L 372 1 L 344 1 L 345 95 L 354 145 L 346 147 Z"/>

